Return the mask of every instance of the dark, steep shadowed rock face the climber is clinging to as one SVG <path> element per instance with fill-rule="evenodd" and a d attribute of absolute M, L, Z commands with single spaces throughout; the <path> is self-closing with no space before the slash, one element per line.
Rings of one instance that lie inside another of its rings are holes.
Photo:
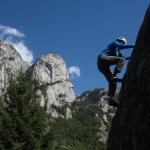
<path fill-rule="evenodd" d="M 150 149 L 150 6 L 139 31 L 107 150 Z"/>

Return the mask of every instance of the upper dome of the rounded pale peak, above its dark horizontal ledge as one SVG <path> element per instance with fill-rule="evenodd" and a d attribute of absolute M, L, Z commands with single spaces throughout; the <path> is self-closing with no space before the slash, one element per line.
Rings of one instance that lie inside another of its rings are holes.
<path fill-rule="evenodd" d="M 69 81 L 64 60 L 56 54 L 47 54 L 38 59 L 31 67 L 32 79 L 39 84 Z M 73 87 L 73 86 L 72 86 Z"/>

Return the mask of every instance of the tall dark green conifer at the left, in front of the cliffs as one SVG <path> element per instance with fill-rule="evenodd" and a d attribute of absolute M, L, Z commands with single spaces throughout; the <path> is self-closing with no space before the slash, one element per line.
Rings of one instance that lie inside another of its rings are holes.
<path fill-rule="evenodd" d="M 25 74 L 10 80 L 0 102 L 0 148 L 38 150 L 49 132 L 49 117 L 40 106 L 36 87 Z"/>

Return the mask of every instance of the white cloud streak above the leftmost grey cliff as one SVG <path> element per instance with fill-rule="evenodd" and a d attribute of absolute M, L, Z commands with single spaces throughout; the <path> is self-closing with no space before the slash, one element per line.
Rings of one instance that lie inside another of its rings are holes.
<path fill-rule="evenodd" d="M 25 45 L 24 37 L 25 34 L 18 29 L 0 25 L 0 39 L 12 44 L 20 53 L 23 60 L 31 64 L 33 61 L 33 54 L 32 51 Z"/>

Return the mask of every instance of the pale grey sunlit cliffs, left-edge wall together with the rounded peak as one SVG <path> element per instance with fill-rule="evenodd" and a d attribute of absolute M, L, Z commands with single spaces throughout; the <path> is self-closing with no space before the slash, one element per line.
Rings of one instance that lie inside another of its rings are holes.
<path fill-rule="evenodd" d="M 62 107 L 75 100 L 66 64 L 60 56 L 47 54 L 29 66 L 12 45 L 0 41 L 0 96 L 6 92 L 9 80 L 20 71 L 36 81 L 41 105 L 54 117 L 59 114 L 51 106 Z M 70 117 L 70 109 L 66 108 L 66 118 Z"/>

